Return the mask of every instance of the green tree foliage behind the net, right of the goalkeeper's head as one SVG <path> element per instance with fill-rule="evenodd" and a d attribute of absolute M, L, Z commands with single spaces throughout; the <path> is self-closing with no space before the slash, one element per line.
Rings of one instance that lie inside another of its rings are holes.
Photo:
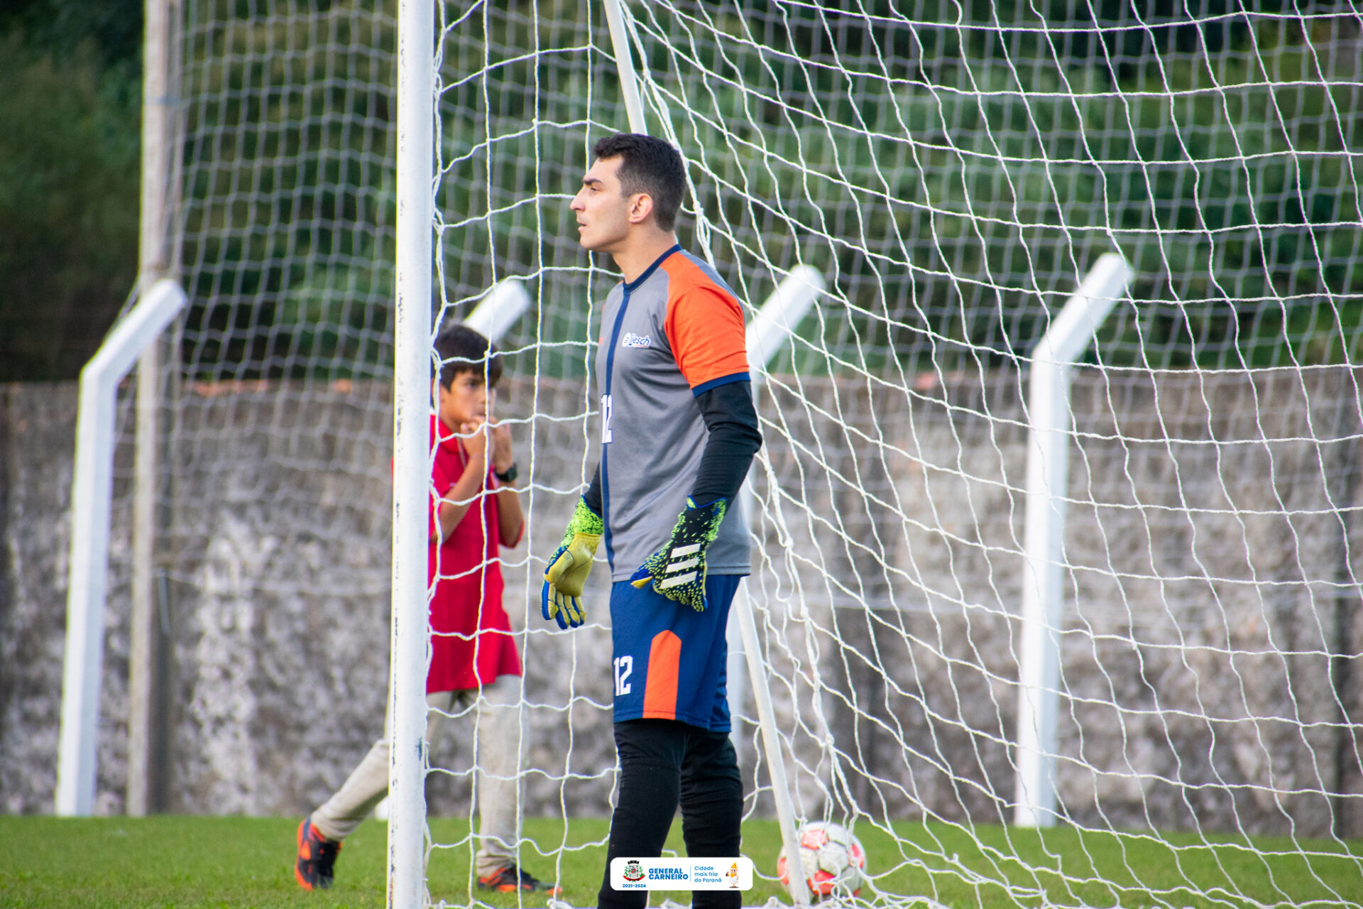
<path fill-rule="evenodd" d="M 849 305 L 812 348 L 1017 364 L 1118 249 L 1141 303 L 1109 319 L 1108 364 L 1363 353 L 1356 18 L 1220 0 L 692 10 L 650 22 L 650 68 L 724 258 L 836 277 Z"/>

